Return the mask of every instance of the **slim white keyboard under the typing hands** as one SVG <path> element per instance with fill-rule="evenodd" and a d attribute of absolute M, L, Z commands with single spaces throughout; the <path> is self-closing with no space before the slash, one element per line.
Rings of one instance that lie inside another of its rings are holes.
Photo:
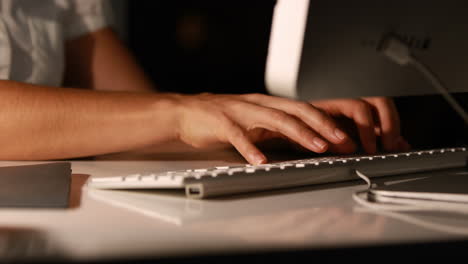
<path fill-rule="evenodd" d="M 205 169 L 92 177 L 98 189 L 185 189 L 189 198 L 273 190 L 357 180 L 355 170 L 369 177 L 391 176 L 467 166 L 467 148 L 444 148 L 384 155 L 334 156 Z"/>

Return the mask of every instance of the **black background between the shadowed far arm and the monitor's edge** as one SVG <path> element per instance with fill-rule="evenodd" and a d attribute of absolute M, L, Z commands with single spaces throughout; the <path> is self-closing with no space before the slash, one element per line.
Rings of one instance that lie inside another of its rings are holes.
<path fill-rule="evenodd" d="M 275 1 L 128 1 L 129 45 L 164 91 L 265 92 Z"/>

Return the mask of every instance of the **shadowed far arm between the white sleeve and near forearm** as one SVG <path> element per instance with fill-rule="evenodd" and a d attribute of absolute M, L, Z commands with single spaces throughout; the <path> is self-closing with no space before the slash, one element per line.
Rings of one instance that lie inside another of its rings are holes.
<path fill-rule="evenodd" d="M 71 85 L 102 91 L 155 90 L 110 28 L 68 41 L 65 57 L 65 80 Z"/>

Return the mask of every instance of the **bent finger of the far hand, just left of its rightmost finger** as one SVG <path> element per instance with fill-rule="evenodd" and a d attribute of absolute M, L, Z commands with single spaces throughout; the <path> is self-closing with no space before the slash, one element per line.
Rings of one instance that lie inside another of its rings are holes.
<path fill-rule="evenodd" d="M 364 150 L 367 153 L 375 153 L 376 134 L 375 123 L 370 105 L 362 100 L 334 100 L 333 102 L 318 102 L 314 103 L 320 107 L 321 104 L 326 108 L 327 112 L 332 115 L 344 115 L 354 121 L 359 133 L 359 138 Z"/>

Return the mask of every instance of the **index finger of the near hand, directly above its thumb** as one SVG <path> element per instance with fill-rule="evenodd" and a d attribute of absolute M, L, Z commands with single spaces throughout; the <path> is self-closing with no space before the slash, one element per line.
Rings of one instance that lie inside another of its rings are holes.
<path fill-rule="evenodd" d="M 231 109 L 227 112 L 228 116 L 246 130 L 264 128 L 278 132 L 317 153 L 323 153 L 328 149 L 328 143 L 316 132 L 304 122 L 283 111 L 244 101 L 230 104 L 229 107 Z"/>

